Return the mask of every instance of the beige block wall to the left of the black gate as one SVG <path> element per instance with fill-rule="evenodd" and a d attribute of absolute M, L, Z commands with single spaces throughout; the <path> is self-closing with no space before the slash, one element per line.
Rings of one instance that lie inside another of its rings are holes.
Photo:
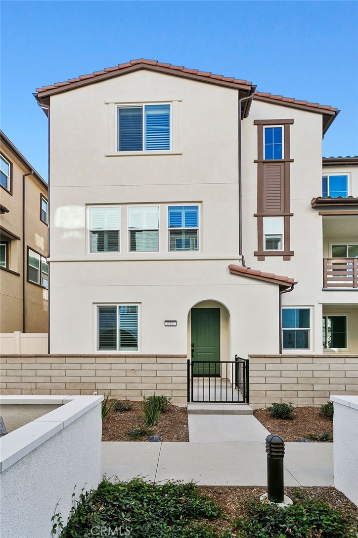
<path fill-rule="evenodd" d="M 162 394 L 187 401 L 186 355 L 8 355 L 0 357 L 2 394 L 77 394 L 111 391 L 141 400 Z"/>

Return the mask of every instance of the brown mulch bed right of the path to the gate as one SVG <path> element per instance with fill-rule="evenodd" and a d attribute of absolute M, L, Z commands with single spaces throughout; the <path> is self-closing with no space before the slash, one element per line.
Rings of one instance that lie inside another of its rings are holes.
<path fill-rule="evenodd" d="M 320 412 L 319 407 L 295 407 L 294 420 L 272 419 L 267 409 L 255 409 L 253 414 L 270 433 L 280 435 L 288 443 L 310 434 L 322 435 L 325 431 L 333 439 L 333 422 Z"/>

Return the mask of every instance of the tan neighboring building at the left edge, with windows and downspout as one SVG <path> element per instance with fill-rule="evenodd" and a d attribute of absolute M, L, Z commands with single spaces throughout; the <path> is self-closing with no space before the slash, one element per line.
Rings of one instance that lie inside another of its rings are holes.
<path fill-rule="evenodd" d="M 45 333 L 47 183 L 0 131 L 0 332 Z"/>

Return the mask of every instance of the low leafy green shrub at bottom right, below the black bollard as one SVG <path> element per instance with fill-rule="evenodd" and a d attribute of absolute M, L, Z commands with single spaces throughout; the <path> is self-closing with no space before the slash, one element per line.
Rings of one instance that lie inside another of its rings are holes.
<path fill-rule="evenodd" d="M 353 528 L 337 509 L 319 500 L 303 499 L 299 504 L 279 508 L 252 499 L 246 517 L 237 521 L 239 538 L 350 538 Z"/>

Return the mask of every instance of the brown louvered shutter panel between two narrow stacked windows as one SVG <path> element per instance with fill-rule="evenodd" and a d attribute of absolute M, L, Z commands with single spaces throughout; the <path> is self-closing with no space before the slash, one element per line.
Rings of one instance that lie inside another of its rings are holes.
<path fill-rule="evenodd" d="M 264 213 L 284 211 L 284 163 L 264 164 Z"/>

